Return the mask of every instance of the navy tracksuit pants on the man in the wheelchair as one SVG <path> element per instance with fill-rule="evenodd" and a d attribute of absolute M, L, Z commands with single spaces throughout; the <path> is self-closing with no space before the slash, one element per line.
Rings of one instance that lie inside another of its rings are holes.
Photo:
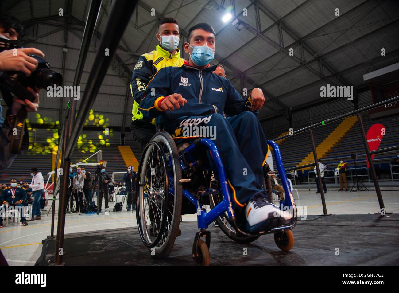
<path fill-rule="evenodd" d="M 245 205 L 256 192 L 263 191 L 263 163 L 268 146 L 259 120 L 248 111 L 227 118 L 211 114 L 182 117 L 165 124 L 164 129 L 183 137 L 187 136 L 184 135 L 187 124 L 192 124 L 193 129 L 194 126 L 209 126 L 215 130 L 213 143 L 219 150 L 227 179 L 234 188 L 231 193 L 233 206 L 237 216 L 245 220 Z"/>

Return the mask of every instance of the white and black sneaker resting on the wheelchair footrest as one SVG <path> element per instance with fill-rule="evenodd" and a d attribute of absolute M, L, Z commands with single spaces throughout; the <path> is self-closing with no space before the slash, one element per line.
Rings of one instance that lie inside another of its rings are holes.
<path fill-rule="evenodd" d="M 269 231 L 290 224 L 292 220 L 292 215 L 288 211 L 282 211 L 269 202 L 265 192 L 257 192 L 249 200 L 245 215 L 247 217 L 246 230 L 251 233 Z"/>

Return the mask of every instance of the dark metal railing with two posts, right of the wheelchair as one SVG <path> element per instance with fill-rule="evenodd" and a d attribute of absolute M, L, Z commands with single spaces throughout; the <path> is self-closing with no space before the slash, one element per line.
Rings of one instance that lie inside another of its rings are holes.
<path fill-rule="evenodd" d="M 306 165 L 302 165 L 302 166 L 296 166 L 296 167 L 292 167 L 292 168 L 287 168 L 285 170 L 286 171 L 291 171 L 291 170 L 303 169 L 303 168 L 310 167 L 310 166 L 316 166 L 317 176 L 318 176 L 318 180 L 319 180 L 319 186 L 322 186 L 322 180 L 321 180 L 321 177 L 320 177 L 319 166 L 318 166 L 318 164 L 316 164 L 316 162 L 318 161 L 318 157 L 317 157 L 316 145 L 314 143 L 314 137 L 313 137 L 313 130 L 312 129 L 314 129 L 316 127 L 323 126 L 323 125 L 327 125 L 328 123 L 332 123 L 334 121 L 342 120 L 342 119 L 345 119 L 347 117 L 354 116 L 354 115 L 356 115 L 358 117 L 359 129 L 360 129 L 360 133 L 361 133 L 361 139 L 363 141 L 363 146 L 364 146 L 364 149 L 365 149 L 365 152 L 366 152 L 366 157 L 367 157 L 367 160 L 369 162 L 373 162 L 373 160 L 371 159 L 371 155 L 373 155 L 373 154 L 381 154 L 383 152 L 391 152 L 393 150 L 399 150 L 399 145 L 396 145 L 396 146 L 389 146 L 389 147 L 386 147 L 386 148 L 381 148 L 379 150 L 370 151 L 369 145 L 367 143 L 366 133 L 365 133 L 365 130 L 364 130 L 363 118 L 361 116 L 361 112 L 368 111 L 368 110 L 371 110 L 371 109 L 374 109 L 374 108 L 377 108 L 377 107 L 380 107 L 380 106 L 383 106 L 383 105 L 386 105 L 388 103 L 391 103 L 391 102 L 394 102 L 394 101 L 398 101 L 398 100 L 399 100 L 399 96 L 393 97 L 391 99 L 387 99 L 385 101 L 381 101 L 381 102 L 375 103 L 373 105 L 369 105 L 369 106 L 366 106 L 366 107 L 363 107 L 363 108 L 360 108 L 360 109 L 356 109 L 354 111 L 350 111 L 350 112 L 348 112 L 346 114 L 342 114 L 342 115 L 339 115 L 339 116 L 331 118 L 331 119 L 323 120 L 323 121 L 321 121 L 319 123 L 315 123 L 315 124 L 309 125 L 307 127 L 304 127 L 302 129 L 299 129 L 297 131 L 294 131 L 293 133 L 282 135 L 280 137 L 277 137 L 277 138 L 273 139 L 273 141 L 279 141 L 281 139 L 287 139 L 289 137 L 293 137 L 293 136 L 295 136 L 295 134 L 299 134 L 299 133 L 303 133 L 305 131 L 309 131 L 310 141 L 312 143 L 314 163 L 310 163 L 310 164 L 306 164 Z M 377 180 L 377 173 L 375 172 L 374 164 L 370 164 L 370 170 L 371 170 L 371 177 L 373 179 L 373 183 L 374 183 L 374 187 L 375 187 L 375 192 L 377 194 L 378 204 L 379 204 L 379 207 L 380 207 L 380 209 L 382 211 L 383 209 L 385 209 L 385 206 L 384 206 L 384 202 L 383 202 L 383 199 L 382 199 L 382 196 L 381 196 L 381 190 L 379 188 L 379 184 L 378 184 L 378 180 Z M 324 190 L 323 190 L 323 188 L 320 188 L 320 197 L 321 197 L 321 200 L 322 200 L 323 215 L 327 215 L 326 200 L 324 198 Z"/>

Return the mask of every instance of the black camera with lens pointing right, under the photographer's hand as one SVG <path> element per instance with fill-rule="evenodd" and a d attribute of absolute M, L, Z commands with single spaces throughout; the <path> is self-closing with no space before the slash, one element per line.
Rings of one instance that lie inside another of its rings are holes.
<path fill-rule="evenodd" d="M 47 89 L 47 87 L 52 87 L 54 84 L 61 85 L 62 75 L 57 71 L 51 70 L 49 63 L 43 58 L 36 55 L 29 56 L 38 60 L 38 68 L 32 71 L 30 76 L 26 76 L 21 71 L 3 71 L 0 73 L 0 84 L 19 99 L 28 99 L 32 102 L 35 97 L 26 89 L 27 87 Z"/>

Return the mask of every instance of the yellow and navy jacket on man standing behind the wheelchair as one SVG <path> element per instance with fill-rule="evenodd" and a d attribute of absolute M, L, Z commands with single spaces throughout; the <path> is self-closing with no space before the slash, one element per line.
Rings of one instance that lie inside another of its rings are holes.
<path fill-rule="evenodd" d="M 138 109 L 138 104 L 144 99 L 146 86 L 158 70 L 168 66 L 180 67 L 183 63 L 184 59 L 180 57 L 179 49 L 177 49 L 175 54 L 170 55 L 170 52 L 162 49 L 160 45 L 156 46 L 156 50 L 140 56 L 136 66 L 134 66 L 132 80 L 130 81 L 130 92 L 134 99 L 133 121 L 143 119 L 143 114 Z M 151 122 L 148 118 L 144 118 L 144 120 Z"/>

